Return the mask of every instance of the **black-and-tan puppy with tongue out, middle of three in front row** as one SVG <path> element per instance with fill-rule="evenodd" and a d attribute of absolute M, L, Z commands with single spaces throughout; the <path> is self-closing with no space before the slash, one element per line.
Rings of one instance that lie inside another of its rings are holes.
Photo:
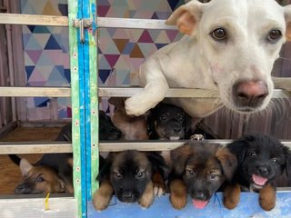
<path fill-rule="evenodd" d="M 184 144 L 171 152 L 170 202 L 180 210 L 187 194 L 196 208 L 204 208 L 223 183 L 236 172 L 236 156 L 219 144 Z"/>

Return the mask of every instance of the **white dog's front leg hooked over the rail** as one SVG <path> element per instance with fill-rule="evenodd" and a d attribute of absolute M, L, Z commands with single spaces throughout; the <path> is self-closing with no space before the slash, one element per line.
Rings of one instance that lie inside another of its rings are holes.
<path fill-rule="evenodd" d="M 155 59 L 148 60 L 140 69 L 140 84 L 145 84 L 141 93 L 125 101 L 126 114 L 142 115 L 161 102 L 169 89 L 166 77 Z"/>

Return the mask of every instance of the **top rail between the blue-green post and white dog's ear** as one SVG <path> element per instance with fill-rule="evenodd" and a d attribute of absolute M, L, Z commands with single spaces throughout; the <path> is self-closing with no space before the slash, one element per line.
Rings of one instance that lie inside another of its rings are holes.
<path fill-rule="evenodd" d="M 97 25 L 103 28 L 176 29 L 176 25 L 165 25 L 165 21 L 166 20 L 98 17 Z"/>

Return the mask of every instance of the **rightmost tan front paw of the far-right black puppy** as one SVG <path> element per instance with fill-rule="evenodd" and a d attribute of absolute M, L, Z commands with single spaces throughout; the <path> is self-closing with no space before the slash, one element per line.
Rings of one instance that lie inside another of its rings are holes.
<path fill-rule="evenodd" d="M 259 192 L 259 203 L 265 211 L 271 211 L 276 204 L 276 188 L 267 184 Z"/>

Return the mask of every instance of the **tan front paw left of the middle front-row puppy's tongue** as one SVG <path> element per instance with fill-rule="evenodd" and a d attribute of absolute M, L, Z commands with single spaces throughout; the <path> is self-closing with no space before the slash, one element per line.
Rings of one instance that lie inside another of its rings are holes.
<path fill-rule="evenodd" d="M 181 210 L 187 203 L 187 187 L 183 180 L 176 179 L 170 183 L 170 202 L 177 210 Z"/>

